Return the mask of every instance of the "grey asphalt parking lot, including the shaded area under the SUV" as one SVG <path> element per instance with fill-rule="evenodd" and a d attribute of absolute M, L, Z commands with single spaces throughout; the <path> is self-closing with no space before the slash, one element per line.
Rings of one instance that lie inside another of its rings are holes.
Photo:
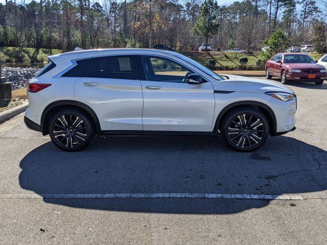
<path fill-rule="evenodd" d="M 66 153 L 27 129 L 22 114 L 5 122 L 0 243 L 325 243 L 327 82 L 287 86 L 298 98 L 297 129 L 252 153 L 230 150 L 220 136 L 96 138 Z M 256 199 L 270 195 L 285 200 Z"/>

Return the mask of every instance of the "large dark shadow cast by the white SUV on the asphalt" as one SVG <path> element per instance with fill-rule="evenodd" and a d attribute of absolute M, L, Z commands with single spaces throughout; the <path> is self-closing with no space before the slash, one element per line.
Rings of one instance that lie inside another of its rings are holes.
<path fill-rule="evenodd" d="M 297 139 L 269 137 L 258 151 L 228 149 L 217 137 L 95 138 L 80 152 L 52 142 L 20 162 L 20 186 L 37 194 L 296 194 L 327 189 L 327 152 Z M 76 208 L 130 212 L 225 214 L 269 200 L 43 199 Z"/>

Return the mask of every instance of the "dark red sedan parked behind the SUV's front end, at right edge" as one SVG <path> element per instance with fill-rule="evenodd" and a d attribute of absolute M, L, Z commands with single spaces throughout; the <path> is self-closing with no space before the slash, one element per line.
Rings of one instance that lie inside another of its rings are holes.
<path fill-rule="evenodd" d="M 326 68 L 306 54 L 279 53 L 266 62 L 266 78 L 281 78 L 283 84 L 290 80 L 315 82 L 318 85 L 326 79 Z"/>

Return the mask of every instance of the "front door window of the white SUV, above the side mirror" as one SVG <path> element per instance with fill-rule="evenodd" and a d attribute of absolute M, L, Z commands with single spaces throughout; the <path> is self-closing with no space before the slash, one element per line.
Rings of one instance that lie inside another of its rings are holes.
<path fill-rule="evenodd" d="M 156 82 L 181 83 L 186 82 L 186 77 L 193 72 L 169 59 L 142 56 L 142 65 L 146 80 Z"/>

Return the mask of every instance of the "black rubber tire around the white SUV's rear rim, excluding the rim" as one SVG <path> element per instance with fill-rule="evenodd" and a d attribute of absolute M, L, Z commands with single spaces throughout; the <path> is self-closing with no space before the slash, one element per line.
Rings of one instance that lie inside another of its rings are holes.
<path fill-rule="evenodd" d="M 80 117 L 86 127 L 87 130 L 87 136 L 86 139 L 84 140 L 84 142 L 82 144 L 80 144 L 77 147 L 74 148 L 66 148 L 63 147 L 62 145 L 60 145 L 57 140 L 55 139 L 55 136 L 53 134 L 53 126 L 56 122 L 56 120 L 58 119 L 58 117 L 62 116 L 62 115 L 66 115 L 66 114 L 72 114 L 72 115 L 76 115 L 78 117 Z M 50 124 L 49 124 L 49 135 L 50 138 L 52 140 L 52 142 L 60 149 L 64 150 L 64 151 L 68 151 L 68 152 L 75 152 L 75 151 L 79 151 L 82 150 L 83 148 L 85 148 L 92 140 L 93 136 L 94 136 L 94 129 L 92 127 L 92 124 L 90 122 L 90 119 L 81 111 L 76 110 L 76 109 L 64 109 L 58 113 L 56 113 L 50 120 Z"/>

